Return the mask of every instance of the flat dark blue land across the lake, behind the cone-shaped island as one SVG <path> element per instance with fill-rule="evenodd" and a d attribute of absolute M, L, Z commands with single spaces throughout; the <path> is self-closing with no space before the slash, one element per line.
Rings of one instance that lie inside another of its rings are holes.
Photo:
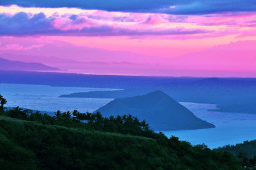
<path fill-rule="evenodd" d="M 175 101 L 218 104 L 216 111 L 256 113 L 256 78 L 113 76 L 33 71 L 0 71 L 0 83 L 124 89 L 61 97 L 120 98 L 161 90 Z"/>

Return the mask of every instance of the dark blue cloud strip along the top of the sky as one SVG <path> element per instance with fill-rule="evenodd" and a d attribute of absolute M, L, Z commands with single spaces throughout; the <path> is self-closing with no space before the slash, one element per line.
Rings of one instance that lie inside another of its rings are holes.
<path fill-rule="evenodd" d="M 255 0 L 1 0 L 0 5 L 24 7 L 74 7 L 88 10 L 208 14 L 225 11 L 256 11 Z M 170 8 L 175 6 L 176 8 Z"/>

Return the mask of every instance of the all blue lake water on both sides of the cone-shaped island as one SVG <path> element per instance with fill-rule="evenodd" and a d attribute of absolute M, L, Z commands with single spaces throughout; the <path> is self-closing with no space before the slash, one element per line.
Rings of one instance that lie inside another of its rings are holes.
<path fill-rule="evenodd" d="M 50 87 L 46 85 L 1 84 L 0 94 L 8 100 L 8 107 L 20 106 L 44 111 L 94 111 L 112 99 L 60 98 L 61 94 L 109 90 L 99 88 Z M 114 89 L 112 89 L 114 90 Z M 209 148 L 234 145 L 256 139 L 256 114 L 221 113 L 207 111 L 215 104 L 181 103 L 197 117 L 216 125 L 213 129 L 164 131 L 166 136 L 178 136 L 193 145 L 205 143 Z"/>

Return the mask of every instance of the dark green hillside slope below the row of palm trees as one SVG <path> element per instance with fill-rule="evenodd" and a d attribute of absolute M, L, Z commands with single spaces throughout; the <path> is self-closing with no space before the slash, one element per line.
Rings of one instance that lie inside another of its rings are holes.
<path fill-rule="evenodd" d="M 4 169 L 239 169 L 230 153 L 175 137 L 150 139 L 4 116 L 0 135 Z"/>

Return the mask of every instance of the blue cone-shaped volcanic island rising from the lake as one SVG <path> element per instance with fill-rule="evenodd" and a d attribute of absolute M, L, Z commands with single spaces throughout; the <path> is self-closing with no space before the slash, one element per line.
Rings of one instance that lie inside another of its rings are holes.
<path fill-rule="evenodd" d="M 215 127 L 197 118 L 186 107 L 159 90 L 141 96 L 118 98 L 96 111 L 104 117 L 131 114 L 140 120 L 145 119 L 157 131 Z"/>

